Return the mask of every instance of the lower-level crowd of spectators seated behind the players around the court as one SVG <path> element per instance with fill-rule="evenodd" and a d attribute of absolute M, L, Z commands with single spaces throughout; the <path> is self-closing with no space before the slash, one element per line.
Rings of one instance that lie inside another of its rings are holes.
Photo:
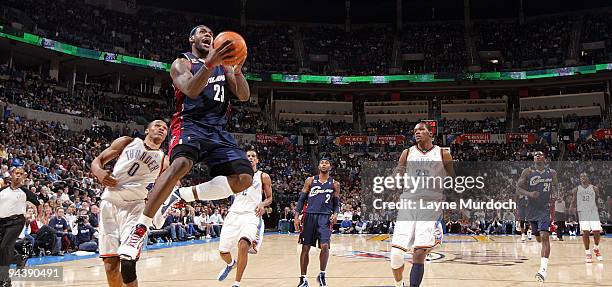
<path fill-rule="evenodd" d="M 26 187 L 43 201 L 40 214 L 35 209 L 28 210 L 29 225 L 24 230 L 23 238 L 32 240 L 39 250 L 47 254 L 62 254 L 75 250 L 95 251 L 99 196 L 102 187 L 89 174 L 88 164 L 107 146 L 109 140 L 119 136 L 119 133 L 104 134 L 97 131 L 76 133 L 57 123 L 28 120 L 14 115 L 4 118 L 1 127 L 3 134 L 11 131 L 14 135 L 2 138 L 0 145 L 2 177 L 8 177 L 11 167 L 23 166 L 29 174 Z M 455 160 L 460 162 L 529 161 L 531 152 L 535 150 L 544 151 L 552 160 L 561 159 L 559 144 L 463 142 L 453 144 L 450 148 Z M 294 201 L 297 193 L 301 190 L 304 179 L 315 170 L 311 151 L 291 144 L 259 145 L 257 149 L 261 159 L 260 168 L 271 175 L 275 193 L 275 203 L 264 215 L 266 224 L 273 229 L 280 228 L 282 231 L 291 232 L 291 219 L 292 214 L 296 212 Z M 609 160 L 612 155 L 611 150 L 610 140 L 576 141 L 568 146 L 567 158 L 582 161 Z M 363 202 L 361 173 L 365 162 L 373 160 L 392 162 L 398 158 L 400 151 L 401 149 L 362 153 L 351 149 L 332 150 L 334 177 L 343 183 L 341 195 L 343 213 L 338 225 L 340 232 L 389 232 L 393 228 L 392 216 L 362 211 L 365 202 Z M 598 157 L 603 153 L 606 154 L 605 157 Z M 610 169 L 588 169 L 589 166 L 585 166 L 574 164 L 571 168 L 560 169 L 565 173 L 587 171 L 596 178 L 595 184 L 601 186 L 611 184 L 607 182 L 611 178 L 609 175 L 597 173 L 605 173 L 606 170 L 609 172 Z M 563 174 L 562 185 L 573 186 L 576 184 L 576 178 L 569 173 Z M 202 179 L 188 178 L 185 184 L 195 184 L 200 180 Z M 502 180 L 497 184 L 504 183 Z M 503 192 L 512 192 L 512 189 L 496 189 L 493 193 L 487 193 L 487 198 L 508 195 Z M 605 202 L 599 204 L 602 216 L 606 216 L 603 218 L 608 218 L 609 211 Z M 223 225 L 223 218 L 227 214 L 227 207 L 225 201 L 179 204 L 170 212 L 164 226 L 152 231 L 150 242 L 217 237 Z M 448 219 L 452 225 L 452 219 L 458 217 L 449 216 L 452 217 Z M 472 226 L 475 218 L 483 215 L 471 213 L 460 216 L 463 216 L 462 222 L 467 224 L 467 228 L 462 229 L 462 232 L 501 232 L 497 228 L 500 226 L 498 223 L 502 222 L 504 217 L 509 217 L 505 214 L 485 214 L 485 221 L 476 220 L 478 223 Z M 494 228 L 491 229 L 491 226 Z M 49 237 L 49 234 L 53 236 Z M 48 241 L 49 238 L 53 241 Z"/>

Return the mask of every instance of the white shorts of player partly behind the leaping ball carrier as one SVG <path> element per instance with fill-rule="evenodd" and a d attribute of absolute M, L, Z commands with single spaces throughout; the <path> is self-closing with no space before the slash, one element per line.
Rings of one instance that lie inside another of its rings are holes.
<path fill-rule="evenodd" d="M 219 239 L 219 251 L 230 252 L 244 238 L 251 244 L 250 253 L 257 253 L 263 239 L 263 219 L 253 212 L 229 212 L 223 222 Z"/>

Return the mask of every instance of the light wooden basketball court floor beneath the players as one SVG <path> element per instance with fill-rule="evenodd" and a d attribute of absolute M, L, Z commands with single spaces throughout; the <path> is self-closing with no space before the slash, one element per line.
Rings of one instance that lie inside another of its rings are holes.
<path fill-rule="evenodd" d="M 584 263 L 580 237 L 552 242 L 547 286 L 612 286 L 612 244 L 602 239 L 604 261 Z M 249 258 L 242 286 L 297 286 L 299 247 L 297 236 L 267 234 L 262 250 Z M 150 250 L 138 262 L 140 286 L 231 286 L 216 281 L 224 263 L 218 242 Z M 387 260 L 386 235 L 334 235 L 327 268 L 330 286 L 393 286 Z M 514 236 L 446 236 L 426 264 L 422 286 L 541 286 L 534 275 L 540 259 L 539 244 L 522 243 Z M 106 286 L 98 258 L 51 265 L 64 266 L 64 282 L 15 282 L 14 286 Z M 318 286 L 318 250 L 311 250 L 308 279 Z M 408 278 L 410 265 L 406 265 Z"/>

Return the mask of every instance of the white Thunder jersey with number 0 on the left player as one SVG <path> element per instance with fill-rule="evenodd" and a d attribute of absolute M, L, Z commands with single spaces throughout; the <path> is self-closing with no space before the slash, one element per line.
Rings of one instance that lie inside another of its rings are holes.
<path fill-rule="evenodd" d="M 142 139 L 135 138 L 123 149 L 113 168 L 117 185 L 107 187 L 101 198 L 114 204 L 144 200 L 147 187 L 160 175 L 163 163 L 163 151 L 149 150 Z"/>

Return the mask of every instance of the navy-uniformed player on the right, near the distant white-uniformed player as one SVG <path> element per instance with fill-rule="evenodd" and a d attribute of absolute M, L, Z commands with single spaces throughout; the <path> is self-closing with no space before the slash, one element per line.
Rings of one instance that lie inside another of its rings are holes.
<path fill-rule="evenodd" d="M 521 173 L 516 183 L 516 191 L 519 195 L 529 197 L 527 220 L 536 240 L 542 243 L 540 269 L 535 276 L 538 281 L 544 282 L 550 256 L 550 196 L 557 192 L 559 184 L 557 172 L 546 167 L 543 152 L 535 152 L 533 160 L 534 166 L 524 169 Z"/>

